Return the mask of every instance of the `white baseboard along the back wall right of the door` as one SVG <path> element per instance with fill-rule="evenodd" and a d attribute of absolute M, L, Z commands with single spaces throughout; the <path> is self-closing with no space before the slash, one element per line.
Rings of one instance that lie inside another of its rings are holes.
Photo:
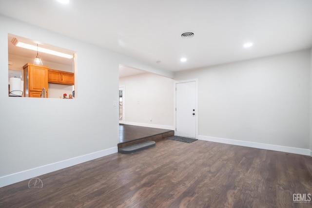
<path fill-rule="evenodd" d="M 240 140 L 234 140 L 234 139 L 224 139 L 224 138 L 211 137 L 211 136 L 202 136 L 202 135 L 198 135 L 197 139 L 211 141 L 211 142 L 224 143 L 224 144 L 239 145 L 239 146 L 244 146 L 244 147 L 252 147 L 252 148 L 258 148 L 258 149 L 264 149 L 264 150 L 283 151 L 283 152 L 289 152 L 289 153 L 294 153 L 294 154 L 303 154 L 303 155 L 312 156 L 312 153 L 311 153 L 312 151 L 310 151 L 309 149 L 285 147 L 285 146 L 279 146 L 279 145 L 263 144 L 263 143 L 257 143 L 257 142 L 247 142 L 247 141 L 240 141 Z"/>

